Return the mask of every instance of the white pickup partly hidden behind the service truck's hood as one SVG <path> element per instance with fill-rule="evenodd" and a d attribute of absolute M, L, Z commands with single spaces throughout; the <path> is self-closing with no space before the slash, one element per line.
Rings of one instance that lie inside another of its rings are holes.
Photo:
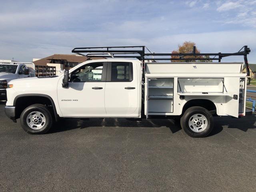
<path fill-rule="evenodd" d="M 14 79 L 34 77 L 34 63 L 0 60 L 0 100 L 6 100 L 8 82 Z"/>

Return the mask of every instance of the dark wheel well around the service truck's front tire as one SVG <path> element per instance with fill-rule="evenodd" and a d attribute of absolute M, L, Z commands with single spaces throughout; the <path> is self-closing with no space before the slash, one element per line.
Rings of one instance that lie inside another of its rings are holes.
<path fill-rule="evenodd" d="M 22 111 L 32 104 L 44 104 L 48 106 L 53 117 L 55 117 L 55 119 L 57 118 L 55 105 L 53 101 L 46 96 L 22 96 L 15 99 L 14 102 L 16 119 L 20 118 Z"/>

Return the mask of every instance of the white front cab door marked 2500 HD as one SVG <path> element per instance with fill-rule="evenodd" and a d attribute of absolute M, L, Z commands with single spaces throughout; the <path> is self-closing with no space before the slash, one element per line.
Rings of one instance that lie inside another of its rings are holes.
<path fill-rule="evenodd" d="M 70 73 L 68 88 L 58 82 L 58 103 L 63 116 L 105 116 L 106 62 L 85 64 Z"/>

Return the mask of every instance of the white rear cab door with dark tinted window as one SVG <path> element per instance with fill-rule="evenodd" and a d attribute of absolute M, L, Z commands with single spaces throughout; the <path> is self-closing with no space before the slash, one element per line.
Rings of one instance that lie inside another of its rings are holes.
<path fill-rule="evenodd" d="M 108 62 L 105 108 L 108 116 L 132 116 L 136 112 L 138 79 L 132 62 Z"/>

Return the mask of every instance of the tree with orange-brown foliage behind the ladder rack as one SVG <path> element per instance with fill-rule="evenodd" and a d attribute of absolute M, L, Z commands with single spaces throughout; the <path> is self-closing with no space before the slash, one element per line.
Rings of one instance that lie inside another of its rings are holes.
<path fill-rule="evenodd" d="M 194 42 L 185 41 L 182 45 L 178 45 L 178 50 L 172 51 L 172 53 L 193 53 L 193 47 L 196 46 Z M 196 53 L 200 53 L 200 50 L 196 48 Z M 184 60 L 171 60 L 172 62 L 212 62 L 212 60 L 196 60 L 196 58 L 210 58 L 209 56 L 171 56 L 171 58 L 184 58 Z M 195 58 L 195 60 L 186 60 L 186 58 Z"/>

